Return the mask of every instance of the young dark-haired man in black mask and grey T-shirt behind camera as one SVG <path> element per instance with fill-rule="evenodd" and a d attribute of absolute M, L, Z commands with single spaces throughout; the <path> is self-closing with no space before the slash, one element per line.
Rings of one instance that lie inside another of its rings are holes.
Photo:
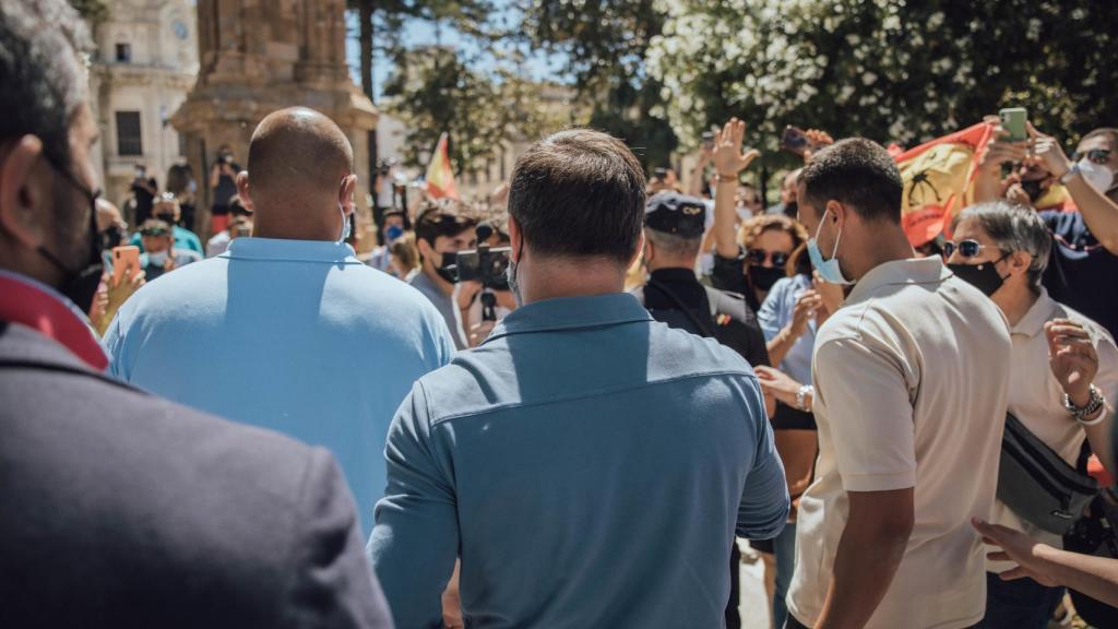
<path fill-rule="evenodd" d="M 433 204 L 416 218 L 416 245 L 423 265 L 410 284 L 435 304 L 457 349 L 470 347 L 461 309 L 473 301 L 482 285 L 468 281 L 455 290 L 458 283 L 456 254 L 477 245 L 476 226 L 474 218 L 445 204 Z"/>

